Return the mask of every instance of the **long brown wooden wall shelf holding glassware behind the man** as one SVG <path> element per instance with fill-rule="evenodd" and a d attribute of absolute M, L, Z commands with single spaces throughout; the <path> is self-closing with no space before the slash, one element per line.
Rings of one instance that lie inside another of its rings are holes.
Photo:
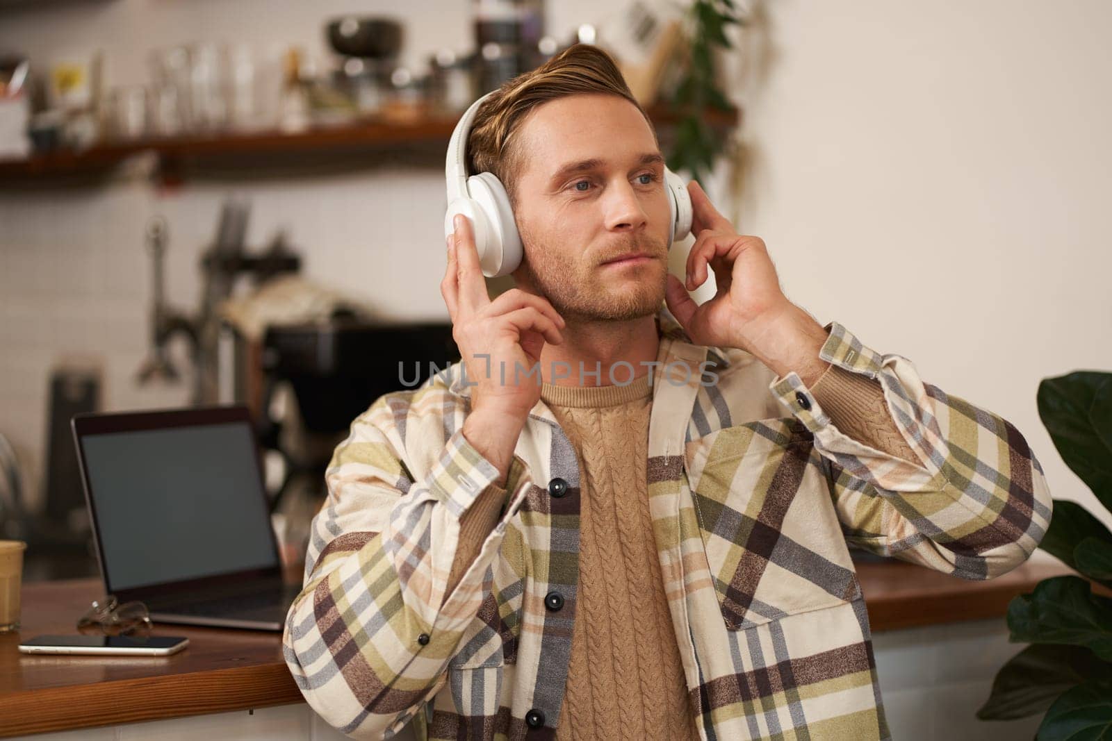
<path fill-rule="evenodd" d="M 663 146 L 682 114 L 666 107 L 651 108 L 648 113 Z M 733 129 L 741 121 L 741 112 L 707 109 L 701 118 L 714 129 Z M 440 117 L 408 122 L 360 121 L 296 133 L 212 133 L 106 142 L 83 152 L 59 150 L 26 160 L 0 160 L 0 183 L 10 187 L 33 181 L 50 184 L 59 179 L 96 180 L 125 160 L 143 153 L 157 158 L 156 178 L 167 183 L 203 176 L 282 177 L 308 170 L 359 169 L 399 152 L 418 158 L 410 164 L 426 159 L 435 164 L 443 162 L 441 149 L 447 146 L 456 120 Z"/>

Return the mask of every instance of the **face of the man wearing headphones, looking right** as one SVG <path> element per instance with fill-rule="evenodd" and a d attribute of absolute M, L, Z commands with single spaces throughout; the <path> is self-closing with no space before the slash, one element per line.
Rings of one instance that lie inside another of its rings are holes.
<path fill-rule="evenodd" d="M 656 313 L 672 224 L 664 160 L 641 111 L 617 96 L 569 96 L 530 111 L 518 137 L 525 259 L 515 279 L 565 319 Z"/>

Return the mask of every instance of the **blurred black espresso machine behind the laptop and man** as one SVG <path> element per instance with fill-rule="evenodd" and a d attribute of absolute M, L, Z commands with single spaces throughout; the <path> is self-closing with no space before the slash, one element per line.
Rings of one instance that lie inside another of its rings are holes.
<path fill-rule="evenodd" d="M 168 232 L 160 219 L 149 226 L 151 351 L 139 380 L 181 375 L 167 351 L 180 334 L 195 371 L 191 403 L 248 407 L 279 547 L 292 561 L 305 553 L 309 522 L 327 493 L 325 471 L 353 420 L 383 394 L 447 368 L 459 352 L 448 322 L 385 322 L 370 307 L 300 277 L 300 259 L 281 233 L 249 253 L 246 219 L 244 204 L 225 204 L 201 258 L 201 306 L 193 313 L 165 301 Z M 244 277 L 254 279 L 254 290 L 232 298 Z"/>

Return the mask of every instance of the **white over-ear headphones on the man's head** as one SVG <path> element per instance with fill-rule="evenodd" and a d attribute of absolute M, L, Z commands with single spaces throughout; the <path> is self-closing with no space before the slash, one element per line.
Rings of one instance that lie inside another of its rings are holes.
<path fill-rule="evenodd" d="M 522 237 L 517 232 L 514 211 L 509 206 L 506 188 L 493 172 L 467 174 L 464 156 L 471 122 L 479 104 L 493 94 L 486 93 L 467 109 L 451 132 L 444 172 L 448 181 L 448 211 L 444 217 L 444 237 L 455 231 L 453 220 L 463 213 L 471 220 L 475 247 L 479 253 L 479 266 L 487 278 L 505 276 L 522 264 Z M 684 181 L 664 168 L 664 182 L 668 191 L 668 207 L 672 212 L 672 242 L 683 239 L 692 229 L 692 201 Z"/>

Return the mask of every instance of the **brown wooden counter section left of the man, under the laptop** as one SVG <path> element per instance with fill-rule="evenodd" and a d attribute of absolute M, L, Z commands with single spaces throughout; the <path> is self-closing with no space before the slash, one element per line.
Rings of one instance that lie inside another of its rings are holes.
<path fill-rule="evenodd" d="M 170 657 L 50 657 L 19 653 L 20 635 L 77 633 L 101 597 L 99 579 L 24 584 L 22 628 L 0 634 L 0 738 L 304 702 L 266 631 L 155 624 L 186 635 Z"/>

